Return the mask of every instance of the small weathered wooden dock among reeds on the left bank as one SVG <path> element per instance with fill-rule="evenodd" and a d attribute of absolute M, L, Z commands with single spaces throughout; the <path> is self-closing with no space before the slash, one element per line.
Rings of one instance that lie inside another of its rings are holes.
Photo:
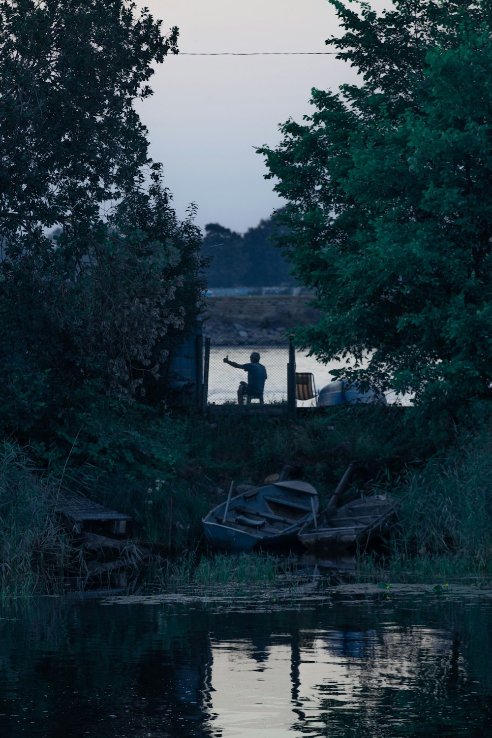
<path fill-rule="evenodd" d="M 110 533 L 124 536 L 126 523 L 131 520 L 130 515 L 110 510 L 78 495 L 60 497 L 55 512 L 61 515 L 63 525 L 77 534 L 81 534 L 88 525 L 101 523 Z"/>

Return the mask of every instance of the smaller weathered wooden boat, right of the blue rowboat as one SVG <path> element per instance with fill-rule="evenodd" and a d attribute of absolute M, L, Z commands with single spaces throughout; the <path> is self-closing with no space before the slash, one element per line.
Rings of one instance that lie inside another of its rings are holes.
<path fill-rule="evenodd" d="M 348 548 L 367 545 L 389 532 L 397 503 L 387 494 L 361 497 L 339 508 L 327 508 L 316 523 L 305 523 L 297 535 L 306 548 Z"/>

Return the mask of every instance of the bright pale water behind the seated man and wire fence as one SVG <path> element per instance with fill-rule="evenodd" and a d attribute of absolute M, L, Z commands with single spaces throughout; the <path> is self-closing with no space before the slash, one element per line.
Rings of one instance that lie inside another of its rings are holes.
<path fill-rule="evenodd" d="M 237 402 L 239 382 L 246 382 L 246 372 L 224 364 L 224 356 L 237 364 L 249 362 L 249 354 L 257 347 L 249 346 L 211 346 L 209 363 L 209 392 L 210 403 L 224 404 L 225 402 Z M 288 347 L 268 346 L 257 348 L 260 351 L 260 362 L 265 366 L 268 379 L 265 383 L 264 399 L 266 402 L 287 401 L 287 364 Z M 314 384 L 319 392 L 325 384 L 332 381 L 330 370 L 344 366 L 344 362 L 330 362 L 320 364 L 314 356 L 306 356 L 302 351 L 296 352 L 296 371 L 311 372 L 314 376 Z M 387 401 L 394 402 L 395 396 L 389 393 Z M 298 407 L 307 407 L 315 404 L 315 401 L 298 401 Z"/>

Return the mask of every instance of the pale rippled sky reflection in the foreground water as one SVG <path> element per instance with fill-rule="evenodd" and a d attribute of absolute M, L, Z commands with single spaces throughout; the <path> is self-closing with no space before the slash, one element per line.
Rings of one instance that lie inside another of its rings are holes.
<path fill-rule="evenodd" d="M 461 658 L 453 665 L 448 634 L 390 623 L 378 632 L 301 631 L 291 644 L 283 639 L 262 652 L 247 640 L 211 647 L 209 727 L 223 738 L 345 736 L 350 715 L 370 738 L 404 733 L 406 724 L 426 720 L 422 689 L 435 699 L 446 672 L 465 675 Z M 393 733 L 381 731 L 384 716 Z M 441 719 L 451 725 L 452 710 Z"/>

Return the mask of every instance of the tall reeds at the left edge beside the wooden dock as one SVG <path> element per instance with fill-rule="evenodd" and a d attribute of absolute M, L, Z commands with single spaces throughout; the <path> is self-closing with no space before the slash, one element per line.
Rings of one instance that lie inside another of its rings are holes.
<path fill-rule="evenodd" d="M 43 481 L 25 452 L 0 447 L 0 596 L 57 592 L 72 548 L 52 515 L 59 483 Z"/>

